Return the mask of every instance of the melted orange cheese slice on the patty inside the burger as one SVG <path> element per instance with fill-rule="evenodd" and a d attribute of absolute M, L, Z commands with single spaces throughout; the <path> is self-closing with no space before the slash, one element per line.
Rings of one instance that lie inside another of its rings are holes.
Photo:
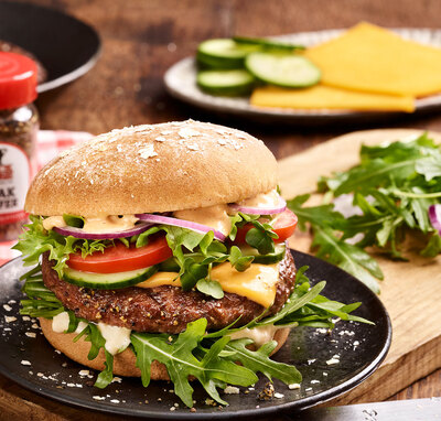
<path fill-rule="evenodd" d="M 279 263 L 254 263 L 245 272 L 238 272 L 230 263 L 226 262 L 213 268 L 211 277 L 220 283 L 225 292 L 246 296 L 263 307 L 269 307 L 276 299 Z M 181 287 L 181 281 L 176 277 L 176 272 L 157 272 L 147 281 L 137 284 L 139 288 L 161 285 Z"/>

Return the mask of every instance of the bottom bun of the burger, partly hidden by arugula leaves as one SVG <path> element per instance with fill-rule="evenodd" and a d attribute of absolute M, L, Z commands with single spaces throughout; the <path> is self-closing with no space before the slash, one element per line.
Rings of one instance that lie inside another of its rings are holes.
<path fill-rule="evenodd" d="M 40 326 L 44 336 L 50 344 L 62 352 L 65 356 L 69 357 L 83 366 L 93 368 L 95 370 L 104 370 L 106 357 L 103 348 L 95 359 L 89 360 L 87 355 L 90 349 L 90 343 L 84 339 L 84 336 L 74 343 L 76 333 L 57 333 L 52 330 L 52 320 L 39 317 Z M 289 335 L 289 327 L 279 328 L 276 331 L 273 339 L 277 342 L 277 347 L 271 353 L 277 353 L 281 346 L 287 342 Z M 125 349 L 122 353 L 114 356 L 114 374 L 125 377 L 141 377 L 141 370 L 136 366 L 137 358 L 130 348 Z M 166 368 L 163 364 L 153 361 L 151 365 L 150 377 L 152 380 L 170 380 Z"/>

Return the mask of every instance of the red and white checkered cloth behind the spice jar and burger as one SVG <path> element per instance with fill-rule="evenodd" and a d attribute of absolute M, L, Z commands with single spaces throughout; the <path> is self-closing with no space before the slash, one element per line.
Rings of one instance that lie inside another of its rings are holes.
<path fill-rule="evenodd" d="M 36 137 L 36 165 L 37 170 L 44 166 L 49 161 L 55 158 L 66 148 L 73 147 L 86 139 L 90 139 L 93 134 L 85 131 L 65 131 L 65 130 L 40 130 Z M 20 256 L 17 250 L 11 247 L 17 242 L 0 242 L 0 265 Z"/>

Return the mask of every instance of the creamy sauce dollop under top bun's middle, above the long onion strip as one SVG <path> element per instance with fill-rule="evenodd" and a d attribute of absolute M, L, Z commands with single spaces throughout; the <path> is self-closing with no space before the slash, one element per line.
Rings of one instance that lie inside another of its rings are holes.
<path fill-rule="evenodd" d="M 224 235 L 228 235 L 232 229 L 228 213 L 230 212 L 227 205 L 215 205 L 197 209 L 176 210 L 173 216 L 179 219 L 206 225 Z"/>

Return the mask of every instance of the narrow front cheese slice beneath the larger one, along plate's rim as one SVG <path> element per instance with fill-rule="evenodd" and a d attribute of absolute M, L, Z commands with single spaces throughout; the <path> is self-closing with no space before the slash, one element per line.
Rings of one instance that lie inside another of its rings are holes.
<path fill-rule="evenodd" d="M 276 86 L 254 90 L 250 104 L 257 107 L 294 109 L 347 109 L 358 111 L 415 110 L 411 96 L 369 94 L 331 86 L 315 85 L 306 89 L 283 89 Z"/>

